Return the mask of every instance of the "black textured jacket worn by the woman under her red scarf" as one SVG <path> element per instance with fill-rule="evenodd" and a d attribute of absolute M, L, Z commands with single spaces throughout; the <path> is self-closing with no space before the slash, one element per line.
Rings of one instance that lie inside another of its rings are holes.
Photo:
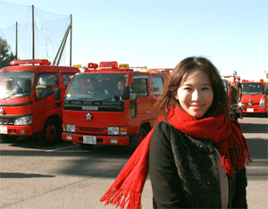
<path fill-rule="evenodd" d="M 221 208 L 221 187 L 213 141 L 192 138 L 167 121 L 155 126 L 149 174 L 154 208 Z M 229 208 L 247 208 L 246 171 L 229 179 Z"/>

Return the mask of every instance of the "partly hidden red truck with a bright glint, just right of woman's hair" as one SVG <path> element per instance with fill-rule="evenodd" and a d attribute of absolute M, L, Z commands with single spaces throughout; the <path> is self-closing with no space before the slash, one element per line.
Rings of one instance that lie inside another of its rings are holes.
<path fill-rule="evenodd" d="M 222 81 L 225 90 L 229 96 L 230 102 L 230 118 L 238 121 L 239 118 L 243 118 L 241 108 L 241 96 L 242 88 L 240 83 L 240 77 L 234 73 L 231 76 L 222 76 Z"/>

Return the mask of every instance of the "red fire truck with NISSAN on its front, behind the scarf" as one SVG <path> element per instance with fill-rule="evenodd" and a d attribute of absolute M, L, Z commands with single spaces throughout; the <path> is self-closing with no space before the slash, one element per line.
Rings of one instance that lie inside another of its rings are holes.
<path fill-rule="evenodd" d="M 157 120 L 154 104 L 167 74 L 153 71 L 134 71 L 117 62 L 88 63 L 66 91 L 63 140 L 80 143 L 81 149 L 137 146 Z"/>

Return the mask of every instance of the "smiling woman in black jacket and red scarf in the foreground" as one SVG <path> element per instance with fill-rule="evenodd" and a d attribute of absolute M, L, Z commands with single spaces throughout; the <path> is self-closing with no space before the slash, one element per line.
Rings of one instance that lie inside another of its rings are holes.
<path fill-rule="evenodd" d="M 156 106 L 161 119 L 101 201 L 139 208 L 149 167 L 154 208 L 247 208 L 251 158 L 213 63 L 181 61 Z"/>

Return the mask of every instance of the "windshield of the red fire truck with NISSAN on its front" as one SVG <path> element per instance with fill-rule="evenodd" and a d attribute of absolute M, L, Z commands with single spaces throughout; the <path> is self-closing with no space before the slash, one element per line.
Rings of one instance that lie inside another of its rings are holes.
<path fill-rule="evenodd" d="M 65 101 L 119 101 L 127 73 L 85 73 L 75 76 Z"/>

